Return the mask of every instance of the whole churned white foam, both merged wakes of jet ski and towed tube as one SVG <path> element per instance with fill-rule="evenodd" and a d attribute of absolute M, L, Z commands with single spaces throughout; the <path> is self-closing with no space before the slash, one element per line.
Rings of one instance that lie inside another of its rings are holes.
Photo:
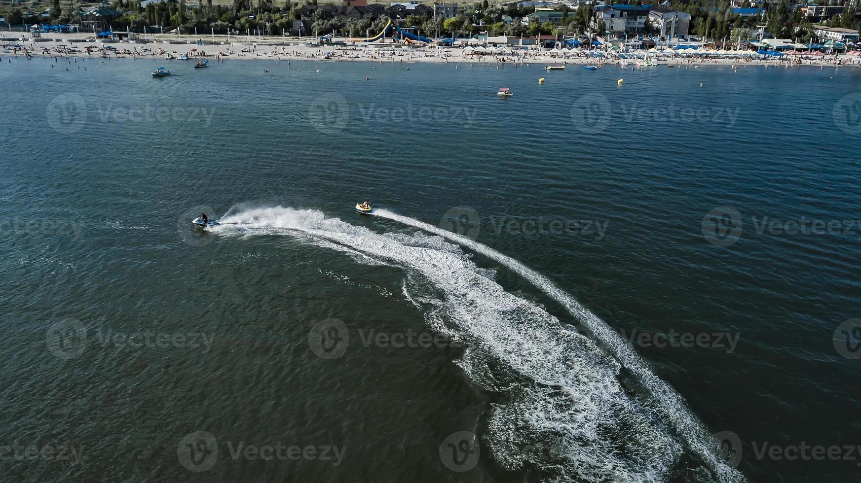
<path fill-rule="evenodd" d="M 377 234 L 320 211 L 280 206 L 232 209 L 221 221 L 236 224 L 213 231 L 290 235 L 363 263 L 402 267 L 405 293 L 426 309 L 427 323 L 466 341 L 457 364 L 480 387 L 501 394 L 485 436 L 505 468 L 529 465 L 555 480 L 662 481 L 672 477 L 683 454 L 672 436 L 677 434 L 716 480 L 744 481 L 715 456 L 709 434 L 681 397 L 604 321 L 548 278 L 466 237 L 390 211 L 375 214 L 433 235 Z M 536 303 L 505 291 L 493 279 L 495 272 L 476 266 L 461 247 L 530 280 L 591 329 L 610 355 L 563 328 Z M 621 367 L 640 380 L 652 400 L 644 402 L 623 388 Z"/>

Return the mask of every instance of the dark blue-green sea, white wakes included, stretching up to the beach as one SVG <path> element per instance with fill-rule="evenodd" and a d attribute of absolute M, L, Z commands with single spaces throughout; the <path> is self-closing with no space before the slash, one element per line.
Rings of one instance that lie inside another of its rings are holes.
<path fill-rule="evenodd" d="M 7 60 L 10 480 L 857 479 L 857 68 Z"/>

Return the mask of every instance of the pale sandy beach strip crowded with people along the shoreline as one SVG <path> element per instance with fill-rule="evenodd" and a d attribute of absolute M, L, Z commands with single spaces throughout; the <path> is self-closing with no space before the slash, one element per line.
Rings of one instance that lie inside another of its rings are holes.
<path fill-rule="evenodd" d="M 12 33 L 9 33 L 12 34 Z M 92 34 L 42 34 L 38 39 L 28 34 L 6 37 L 3 41 L 3 58 L 32 56 L 56 58 L 166 58 L 188 55 L 189 59 L 209 59 L 222 62 L 231 59 L 314 60 L 332 62 L 430 62 L 430 63 L 486 63 L 486 64 L 622 64 L 635 69 L 645 66 L 638 58 L 620 58 L 615 52 L 596 55 L 593 51 L 552 52 L 505 48 L 499 52 L 469 52 L 468 48 L 438 46 L 403 46 L 386 44 L 348 44 L 313 46 L 310 38 L 246 37 L 202 35 L 195 38 L 177 38 L 171 35 L 148 35 L 146 40 L 96 40 Z M 15 40 L 12 40 L 15 39 Z M 335 39 L 338 41 L 338 39 Z M 21 48 L 15 49 L 12 46 Z M 71 50 L 71 52 L 70 52 Z M 642 55 L 643 52 L 639 52 Z M 709 56 L 692 54 L 651 54 L 652 63 L 665 65 L 771 65 L 771 66 L 858 66 L 861 57 L 827 55 L 818 58 L 784 55 L 781 58 L 762 56 Z"/>

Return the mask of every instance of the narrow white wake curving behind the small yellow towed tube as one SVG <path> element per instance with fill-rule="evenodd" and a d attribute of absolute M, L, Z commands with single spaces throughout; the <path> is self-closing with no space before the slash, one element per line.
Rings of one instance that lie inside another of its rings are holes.
<path fill-rule="evenodd" d="M 529 280 L 537 289 L 542 290 L 548 297 L 553 298 L 567 309 L 571 315 L 576 317 L 593 334 L 599 344 L 604 346 L 610 352 L 611 356 L 616 358 L 626 370 L 629 370 L 637 378 L 642 387 L 648 391 L 649 395 L 657 403 L 653 409 L 666 417 L 673 429 L 684 439 L 691 452 L 698 455 L 722 483 L 740 483 L 746 481 L 740 471 L 728 466 L 718 455 L 718 443 L 715 441 L 715 438 L 711 436 L 699 419 L 691 413 L 681 394 L 678 394 L 670 384 L 656 376 L 648 368 L 646 362 L 634 351 L 634 348 L 616 331 L 610 328 L 606 322 L 598 318 L 597 315 L 592 314 L 588 309 L 585 309 L 585 307 L 556 286 L 549 278 L 544 277 L 542 274 L 505 254 L 500 254 L 486 245 L 447 229 L 441 229 L 411 217 L 403 217 L 392 211 L 376 209 L 374 214 L 378 217 L 388 218 L 418 229 L 423 229 L 435 235 L 443 236 L 450 241 L 455 241 L 455 243 L 463 247 L 467 247 L 489 259 L 496 260 Z"/>

